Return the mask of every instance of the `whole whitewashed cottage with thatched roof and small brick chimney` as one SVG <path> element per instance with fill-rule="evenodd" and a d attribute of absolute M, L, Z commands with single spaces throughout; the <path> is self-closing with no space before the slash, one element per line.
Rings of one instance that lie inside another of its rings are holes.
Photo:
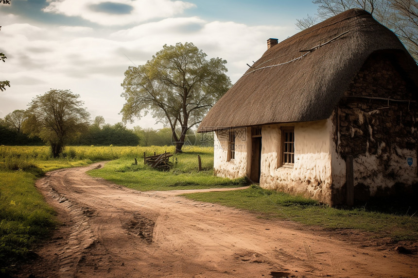
<path fill-rule="evenodd" d="M 329 205 L 417 192 L 418 66 L 364 10 L 267 51 L 209 111 L 214 171 Z"/>

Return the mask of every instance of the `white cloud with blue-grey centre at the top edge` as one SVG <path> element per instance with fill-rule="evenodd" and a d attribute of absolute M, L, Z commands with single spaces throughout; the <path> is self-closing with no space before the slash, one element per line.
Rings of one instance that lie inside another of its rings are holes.
<path fill-rule="evenodd" d="M 195 7 L 185 1 L 171 0 L 47 0 L 44 12 L 80 16 L 105 26 L 123 26 L 151 19 L 171 17 Z"/>

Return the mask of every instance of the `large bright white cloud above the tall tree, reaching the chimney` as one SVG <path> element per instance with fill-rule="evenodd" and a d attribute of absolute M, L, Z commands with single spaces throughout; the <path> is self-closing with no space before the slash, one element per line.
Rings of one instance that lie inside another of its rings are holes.
<path fill-rule="evenodd" d="M 248 68 L 246 64 L 251 65 L 267 50 L 268 38 L 284 39 L 293 33 L 293 26 L 248 26 L 232 21 L 176 17 L 120 30 L 112 33 L 109 39 L 119 41 L 127 49 L 124 53 L 129 52 L 129 58 L 137 65 L 151 59 L 164 44 L 192 42 L 207 53 L 208 58 L 226 59 L 228 75 L 235 82 Z M 141 51 L 139 59 L 134 55 L 138 49 Z M 145 53 L 149 56 L 143 59 Z"/>

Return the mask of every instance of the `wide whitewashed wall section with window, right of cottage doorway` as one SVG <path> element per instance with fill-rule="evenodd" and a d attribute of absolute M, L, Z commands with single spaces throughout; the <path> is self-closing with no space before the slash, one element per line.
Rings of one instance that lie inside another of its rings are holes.
<path fill-rule="evenodd" d="M 282 126 L 262 127 L 260 185 L 331 205 L 332 121 L 295 123 L 292 126 L 295 128 L 293 167 L 279 164 Z"/>

